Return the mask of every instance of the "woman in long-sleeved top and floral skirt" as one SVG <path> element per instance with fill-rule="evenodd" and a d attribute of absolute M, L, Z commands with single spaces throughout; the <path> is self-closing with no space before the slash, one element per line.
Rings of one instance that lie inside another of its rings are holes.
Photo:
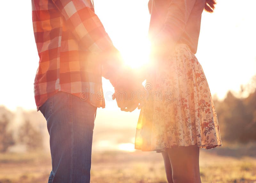
<path fill-rule="evenodd" d="M 195 57 L 202 12 L 213 12 L 215 1 L 148 4 L 154 67 L 147 76 L 149 98 L 141 108 L 135 148 L 162 153 L 169 183 L 198 183 L 199 148 L 221 146 L 209 86 Z"/>

